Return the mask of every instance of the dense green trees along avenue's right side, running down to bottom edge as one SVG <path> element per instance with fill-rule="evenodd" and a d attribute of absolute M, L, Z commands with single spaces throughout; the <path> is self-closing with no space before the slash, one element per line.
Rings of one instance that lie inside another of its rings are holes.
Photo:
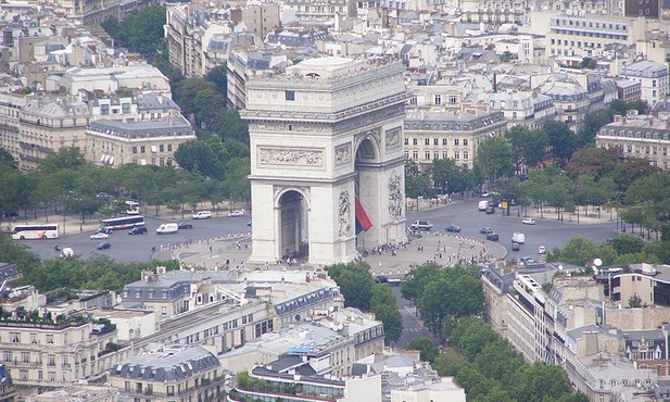
<path fill-rule="evenodd" d="M 528 365 L 511 344 L 479 318 L 484 296 L 479 271 L 427 263 L 412 272 L 401 288 L 415 301 L 425 324 L 451 348 L 441 352 L 432 339 L 408 344 L 420 351 L 442 376 L 454 376 L 468 401 L 585 402 L 573 393 L 565 370 L 555 365 Z"/>

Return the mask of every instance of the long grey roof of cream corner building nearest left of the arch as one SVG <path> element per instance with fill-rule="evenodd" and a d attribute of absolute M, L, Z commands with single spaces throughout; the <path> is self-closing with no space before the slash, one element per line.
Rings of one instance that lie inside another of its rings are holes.
<path fill-rule="evenodd" d="M 124 123 L 109 120 L 98 120 L 90 128 L 125 138 L 190 136 L 193 129 L 184 117 L 170 117 L 161 121 Z"/>

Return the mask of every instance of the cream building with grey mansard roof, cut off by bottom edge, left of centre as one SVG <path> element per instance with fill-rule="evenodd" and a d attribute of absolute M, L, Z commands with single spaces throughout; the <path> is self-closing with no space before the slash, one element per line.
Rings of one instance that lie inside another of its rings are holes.
<path fill-rule="evenodd" d="M 170 344 L 110 366 L 108 381 L 129 400 L 222 401 L 224 368 L 198 346 Z"/>

